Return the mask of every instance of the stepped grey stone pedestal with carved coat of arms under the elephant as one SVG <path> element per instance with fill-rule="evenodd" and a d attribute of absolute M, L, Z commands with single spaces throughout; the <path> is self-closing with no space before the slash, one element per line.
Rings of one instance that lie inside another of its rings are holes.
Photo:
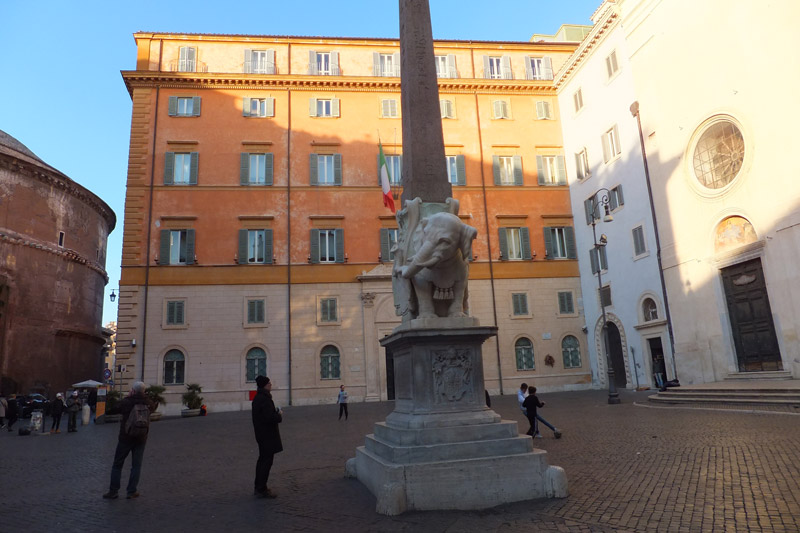
<path fill-rule="evenodd" d="M 481 345 L 496 334 L 473 318 L 416 319 L 381 341 L 392 351 L 395 410 L 347 462 L 376 511 L 484 509 L 565 497 L 564 470 L 486 407 Z"/>

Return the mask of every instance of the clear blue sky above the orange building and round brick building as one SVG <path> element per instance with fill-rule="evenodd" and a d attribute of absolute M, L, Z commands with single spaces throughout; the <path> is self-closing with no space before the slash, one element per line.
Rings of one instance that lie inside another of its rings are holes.
<path fill-rule="evenodd" d="M 436 39 L 528 41 L 590 24 L 601 0 L 431 0 Z M 106 294 L 119 286 L 137 31 L 397 37 L 397 0 L 0 1 L 0 130 L 117 215 Z M 103 323 L 116 320 L 106 297 Z"/>

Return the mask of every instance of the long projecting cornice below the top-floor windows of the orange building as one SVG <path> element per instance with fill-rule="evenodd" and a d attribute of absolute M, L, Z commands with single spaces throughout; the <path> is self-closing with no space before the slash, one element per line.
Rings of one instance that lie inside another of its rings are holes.
<path fill-rule="evenodd" d="M 136 88 L 275 89 L 294 91 L 400 92 L 400 78 L 375 76 L 285 76 L 201 72 L 122 71 L 128 93 Z M 547 80 L 440 78 L 441 93 L 555 94 Z"/>

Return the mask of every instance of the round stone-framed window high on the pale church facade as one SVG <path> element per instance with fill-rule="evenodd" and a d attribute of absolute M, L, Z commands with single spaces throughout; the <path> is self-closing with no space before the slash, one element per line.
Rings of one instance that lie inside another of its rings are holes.
<path fill-rule="evenodd" d="M 744 137 L 728 119 L 706 126 L 692 154 L 697 181 L 709 189 L 722 189 L 736 178 L 744 163 Z"/>

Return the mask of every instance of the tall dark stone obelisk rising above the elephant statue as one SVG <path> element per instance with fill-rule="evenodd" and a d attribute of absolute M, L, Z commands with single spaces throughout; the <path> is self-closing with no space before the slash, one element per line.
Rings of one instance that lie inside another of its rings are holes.
<path fill-rule="evenodd" d="M 428 0 L 400 0 L 400 98 L 403 111 L 403 204 L 443 203 L 447 180 L 439 86 Z"/>

